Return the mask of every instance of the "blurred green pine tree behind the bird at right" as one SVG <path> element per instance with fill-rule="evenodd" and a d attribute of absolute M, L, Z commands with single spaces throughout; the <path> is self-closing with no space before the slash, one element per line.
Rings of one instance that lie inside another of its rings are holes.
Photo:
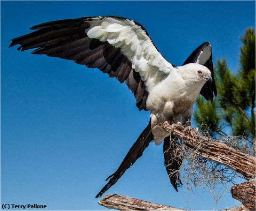
<path fill-rule="evenodd" d="M 217 60 L 217 97 L 212 103 L 199 97 L 194 120 L 212 136 L 248 136 L 255 145 L 255 29 L 246 29 L 240 40 L 240 69 L 233 73 L 226 60 Z"/>

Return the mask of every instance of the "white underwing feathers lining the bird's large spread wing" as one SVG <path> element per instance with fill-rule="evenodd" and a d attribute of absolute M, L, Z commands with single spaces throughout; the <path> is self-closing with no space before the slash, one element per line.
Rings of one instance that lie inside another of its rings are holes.
<path fill-rule="evenodd" d="M 146 90 L 168 76 L 172 65 L 163 58 L 142 28 L 131 20 L 118 18 L 92 18 L 86 30 L 89 38 L 119 47 L 132 62 L 132 68 L 144 80 Z"/>

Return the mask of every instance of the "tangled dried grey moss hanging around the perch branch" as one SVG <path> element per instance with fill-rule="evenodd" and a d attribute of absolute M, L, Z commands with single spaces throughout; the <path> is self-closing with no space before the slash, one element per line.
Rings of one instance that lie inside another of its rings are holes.
<path fill-rule="evenodd" d="M 237 151 L 253 155 L 252 143 L 245 136 L 223 136 L 223 134 L 218 133 L 216 134 L 217 138 L 214 138 L 209 135 L 207 129 L 202 132 L 199 132 L 198 128 L 185 128 L 185 130 L 187 129 L 192 129 L 194 133 L 207 137 L 211 141 L 225 143 Z M 179 140 L 179 143 L 176 144 L 174 157 L 177 161 L 183 160 L 179 171 L 181 181 L 186 184 L 187 189 L 193 193 L 198 192 L 199 188 L 203 189 L 203 192 L 208 190 L 217 203 L 229 190 L 229 184 L 236 184 L 243 177 L 224 165 L 198 155 L 196 151 L 202 147 L 202 144 L 202 142 L 199 142 L 191 151 L 186 146 L 185 141 Z"/>

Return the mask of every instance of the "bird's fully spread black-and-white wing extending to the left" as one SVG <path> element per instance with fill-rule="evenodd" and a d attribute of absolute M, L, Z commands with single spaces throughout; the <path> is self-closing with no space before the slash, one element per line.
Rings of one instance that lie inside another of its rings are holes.
<path fill-rule="evenodd" d="M 83 17 L 42 23 L 36 30 L 12 39 L 18 50 L 73 60 L 99 68 L 124 81 L 139 110 L 147 110 L 148 90 L 175 68 L 159 53 L 144 27 L 118 16 Z"/>

